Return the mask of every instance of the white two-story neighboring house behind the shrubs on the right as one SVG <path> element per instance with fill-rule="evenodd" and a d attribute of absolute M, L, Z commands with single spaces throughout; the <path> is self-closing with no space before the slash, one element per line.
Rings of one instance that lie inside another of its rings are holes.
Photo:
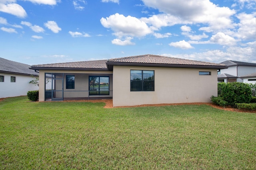
<path fill-rule="evenodd" d="M 222 79 L 220 77 L 221 74 L 230 74 L 232 76 L 237 77 L 236 82 L 243 82 L 240 76 L 244 76 L 247 74 L 251 74 L 256 72 L 256 63 L 246 63 L 241 61 L 223 61 L 220 64 L 225 64 L 228 66 L 226 69 L 221 69 L 220 74 L 218 74 L 218 80 Z"/>

